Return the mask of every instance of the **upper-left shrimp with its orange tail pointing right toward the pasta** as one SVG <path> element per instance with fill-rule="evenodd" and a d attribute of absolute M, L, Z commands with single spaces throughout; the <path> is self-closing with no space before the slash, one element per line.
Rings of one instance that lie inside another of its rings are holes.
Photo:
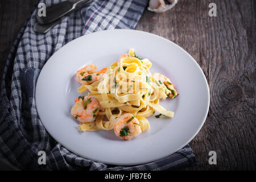
<path fill-rule="evenodd" d="M 100 80 L 107 69 L 108 68 L 103 68 L 101 71 L 97 72 L 97 66 L 89 64 L 86 67 L 79 69 L 79 71 L 76 72 L 76 76 L 82 85 L 88 85 Z"/>

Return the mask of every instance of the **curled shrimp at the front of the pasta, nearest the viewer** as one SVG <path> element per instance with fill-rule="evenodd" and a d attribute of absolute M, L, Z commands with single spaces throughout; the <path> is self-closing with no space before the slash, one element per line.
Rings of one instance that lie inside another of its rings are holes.
<path fill-rule="evenodd" d="M 114 132 L 122 140 L 130 140 L 142 133 L 138 119 L 130 113 L 122 114 L 115 119 Z"/>

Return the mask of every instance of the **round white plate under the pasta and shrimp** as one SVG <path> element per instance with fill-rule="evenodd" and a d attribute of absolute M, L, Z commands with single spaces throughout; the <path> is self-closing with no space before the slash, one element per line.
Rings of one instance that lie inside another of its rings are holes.
<path fill-rule="evenodd" d="M 79 132 L 70 114 L 80 96 L 77 69 L 90 63 L 107 67 L 129 48 L 152 61 L 151 73 L 162 73 L 176 85 L 180 95 L 160 101 L 174 118 L 149 117 L 151 129 L 129 141 L 119 140 L 113 130 Z M 97 162 L 134 165 L 168 156 L 196 136 L 207 117 L 209 88 L 199 65 L 176 44 L 147 32 L 108 30 L 81 36 L 51 56 L 36 83 L 36 107 L 48 133 L 68 150 Z"/>

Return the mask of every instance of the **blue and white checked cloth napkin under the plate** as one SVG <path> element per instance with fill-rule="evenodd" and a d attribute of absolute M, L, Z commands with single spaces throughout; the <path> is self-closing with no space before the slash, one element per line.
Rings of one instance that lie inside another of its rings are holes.
<path fill-rule="evenodd" d="M 47 6 L 56 1 L 39 1 Z M 38 3 L 39 3 L 38 2 Z M 36 5 L 38 5 L 38 3 Z M 49 57 L 69 41 L 91 32 L 133 29 L 147 0 L 97 0 L 67 16 L 46 35 L 33 31 L 36 7 L 16 39 L 3 73 L 0 95 L 0 157 L 18 169 L 164 170 L 192 166 L 189 145 L 164 159 L 140 166 L 110 166 L 72 154 L 44 129 L 35 106 L 35 85 Z M 46 165 L 38 152 L 46 151 Z"/>

